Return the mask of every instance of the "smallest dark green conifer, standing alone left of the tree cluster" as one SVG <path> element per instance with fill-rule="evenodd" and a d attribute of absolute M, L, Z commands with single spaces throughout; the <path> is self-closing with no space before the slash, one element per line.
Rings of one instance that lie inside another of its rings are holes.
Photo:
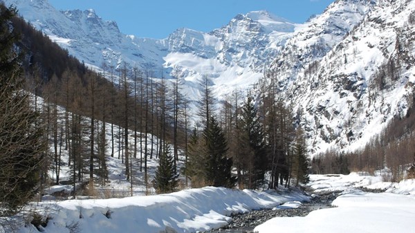
<path fill-rule="evenodd" d="M 154 178 L 154 188 L 158 194 L 174 192 L 178 184 L 178 174 L 174 169 L 174 158 L 170 155 L 170 149 L 164 146 L 164 151 L 160 155 L 156 177 Z"/>

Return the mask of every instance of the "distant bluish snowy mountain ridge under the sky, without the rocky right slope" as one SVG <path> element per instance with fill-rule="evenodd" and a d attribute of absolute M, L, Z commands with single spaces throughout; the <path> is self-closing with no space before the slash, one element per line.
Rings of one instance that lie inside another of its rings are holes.
<path fill-rule="evenodd" d="M 58 11 L 47 0 L 5 2 L 86 64 L 116 68 L 127 62 L 156 77 L 163 71 L 164 77 L 181 79 L 190 100 L 199 97 L 194 87 L 203 75 L 212 78 L 219 97 L 257 82 L 298 26 L 257 11 L 237 15 L 212 32 L 179 28 L 165 39 L 150 39 L 122 34 L 116 22 L 104 21 L 93 10 Z"/>

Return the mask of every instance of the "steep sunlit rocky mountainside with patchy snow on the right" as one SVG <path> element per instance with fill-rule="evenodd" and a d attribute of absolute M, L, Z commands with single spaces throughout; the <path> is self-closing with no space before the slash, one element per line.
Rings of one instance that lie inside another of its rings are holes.
<path fill-rule="evenodd" d="M 291 56 L 302 51 L 300 59 L 310 62 L 293 67 L 295 62 L 277 59 L 273 65 L 282 96 L 291 99 L 301 115 L 313 153 L 329 147 L 362 147 L 391 118 L 404 116 L 412 104 L 414 27 L 408 18 L 414 14 L 415 2 L 349 2 L 349 10 L 369 10 L 351 32 L 341 39 L 333 37 L 340 39 L 337 43 L 317 42 L 317 52 L 308 42 L 303 49 L 293 50 Z M 321 39 L 332 33 L 318 35 Z M 302 46 L 297 37 L 292 40 L 286 48 Z"/>

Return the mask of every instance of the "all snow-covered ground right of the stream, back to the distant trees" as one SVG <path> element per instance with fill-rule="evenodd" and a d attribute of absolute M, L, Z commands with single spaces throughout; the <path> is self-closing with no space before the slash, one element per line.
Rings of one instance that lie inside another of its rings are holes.
<path fill-rule="evenodd" d="M 311 176 L 316 192 L 341 191 L 333 201 L 334 208 L 319 209 L 305 217 L 273 218 L 255 227 L 267 232 L 415 232 L 415 180 L 384 183 L 380 177 L 352 173 Z M 375 194 L 362 192 L 358 187 L 382 189 Z"/>

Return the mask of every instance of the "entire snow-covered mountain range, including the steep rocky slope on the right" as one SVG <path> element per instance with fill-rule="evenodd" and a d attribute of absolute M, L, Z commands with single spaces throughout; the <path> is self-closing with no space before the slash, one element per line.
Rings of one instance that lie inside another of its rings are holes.
<path fill-rule="evenodd" d="M 293 24 L 266 11 L 237 15 L 212 32 L 180 28 L 166 39 L 124 35 L 93 10 L 58 11 L 47 0 L 5 0 L 86 64 L 127 62 L 154 76 L 178 77 L 199 99 L 203 75 L 219 99 L 277 77 L 311 151 L 355 149 L 412 104 L 414 9 L 411 0 L 337 0 Z"/>

